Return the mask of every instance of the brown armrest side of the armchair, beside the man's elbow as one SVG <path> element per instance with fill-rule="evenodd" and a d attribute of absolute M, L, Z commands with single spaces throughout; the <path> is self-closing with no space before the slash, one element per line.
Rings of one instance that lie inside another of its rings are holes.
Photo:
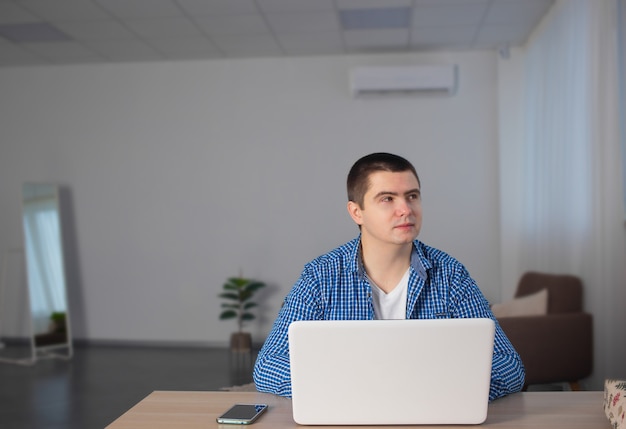
<path fill-rule="evenodd" d="M 498 320 L 526 368 L 526 385 L 573 382 L 591 374 L 593 319 L 587 313 Z"/>

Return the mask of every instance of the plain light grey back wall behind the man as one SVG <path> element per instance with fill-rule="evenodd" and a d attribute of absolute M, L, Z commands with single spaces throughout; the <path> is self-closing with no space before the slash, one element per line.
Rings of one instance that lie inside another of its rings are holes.
<path fill-rule="evenodd" d="M 353 65 L 433 62 L 459 65 L 457 95 L 348 93 Z M 390 151 L 420 173 L 421 238 L 498 301 L 496 70 L 492 52 L 0 69 L 0 251 L 22 245 L 21 183 L 59 183 L 75 337 L 226 343 L 217 294 L 243 270 L 270 286 L 262 341 L 303 264 L 356 236 L 352 163 Z M 19 336 L 8 297 L 0 335 Z"/>

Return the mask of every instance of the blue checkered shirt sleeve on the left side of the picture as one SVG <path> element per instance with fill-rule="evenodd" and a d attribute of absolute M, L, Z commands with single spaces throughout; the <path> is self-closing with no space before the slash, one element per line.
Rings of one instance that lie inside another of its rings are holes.
<path fill-rule="evenodd" d="M 254 365 L 253 378 L 259 392 L 291 397 L 289 325 L 296 320 L 321 319 L 318 288 L 307 268 L 285 298 Z"/>

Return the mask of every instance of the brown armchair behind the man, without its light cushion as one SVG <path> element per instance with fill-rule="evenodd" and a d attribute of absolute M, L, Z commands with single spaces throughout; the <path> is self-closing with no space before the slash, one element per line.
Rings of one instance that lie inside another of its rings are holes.
<path fill-rule="evenodd" d="M 528 272 L 515 297 L 542 289 L 548 291 L 548 314 L 502 317 L 498 322 L 524 362 L 526 388 L 568 382 L 579 390 L 579 381 L 591 374 L 593 365 L 593 320 L 582 309 L 582 282 L 570 275 Z"/>

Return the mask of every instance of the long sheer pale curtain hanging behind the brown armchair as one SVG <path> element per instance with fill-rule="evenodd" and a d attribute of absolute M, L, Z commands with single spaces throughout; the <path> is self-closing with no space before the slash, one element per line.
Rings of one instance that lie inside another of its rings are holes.
<path fill-rule="evenodd" d="M 521 147 L 500 143 L 517 155 L 501 157 L 502 204 L 518 208 L 502 210 L 503 279 L 531 270 L 582 278 L 585 310 L 594 316 L 590 389 L 626 371 L 618 6 L 554 4 L 522 52 L 521 137 L 513 143 Z"/>

